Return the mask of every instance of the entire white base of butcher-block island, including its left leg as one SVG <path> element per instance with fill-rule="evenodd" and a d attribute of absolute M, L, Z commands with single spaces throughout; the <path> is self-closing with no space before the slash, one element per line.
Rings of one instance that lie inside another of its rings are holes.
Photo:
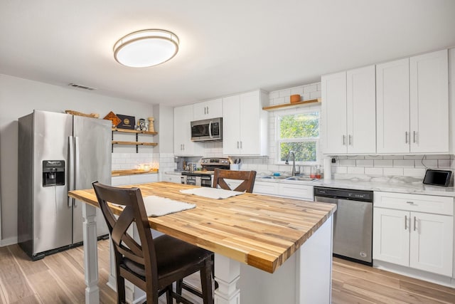
<path fill-rule="evenodd" d="M 85 303 L 100 303 L 95 207 L 83 204 L 82 216 L 85 269 L 89 270 L 85 271 Z M 215 290 L 215 304 L 331 303 L 332 218 L 327 219 L 274 273 L 215 253 L 215 280 L 219 284 Z M 109 277 L 111 283 L 112 273 L 114 268 Z M 130 303 L 139 303 L 144 298 L 144 293 L 132 293 L 134 300 Z"/>

